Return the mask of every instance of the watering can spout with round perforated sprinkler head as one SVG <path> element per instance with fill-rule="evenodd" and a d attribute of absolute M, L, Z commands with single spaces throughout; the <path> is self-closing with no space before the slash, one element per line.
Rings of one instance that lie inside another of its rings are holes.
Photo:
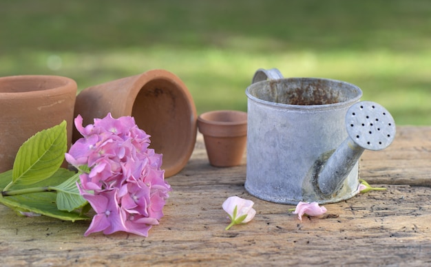
<path fill-rule="evenodd" d="M 318 174 L 319 190 L 324 195 L 337 193 L 365 149 L 381 150 L 395 138 L 395 122 L 381 105 L 362 101 L 346 114 L 348 138 L 326 160 Z"/>

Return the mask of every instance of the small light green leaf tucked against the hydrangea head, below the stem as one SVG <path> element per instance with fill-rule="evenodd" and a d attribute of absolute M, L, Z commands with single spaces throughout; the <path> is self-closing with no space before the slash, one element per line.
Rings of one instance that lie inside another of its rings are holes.
<path fill-rule="evenodd" d="M 82 208 L 87 204 L 82 195 L 79 193 L 76 182 L 79 180 L 79 173 L 76 173 L 71 178 L 65 180 L 58 186 L 50 186 L 50 189 L 57 191 L 57 208 L 61 211 L 74 211 Z"/>

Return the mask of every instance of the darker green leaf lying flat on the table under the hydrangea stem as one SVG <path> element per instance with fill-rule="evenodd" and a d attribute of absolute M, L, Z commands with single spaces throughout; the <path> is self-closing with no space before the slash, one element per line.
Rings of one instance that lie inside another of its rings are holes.
<path fill-rule="evenodd" d="M 15 211 L 30 211 L 65 221 L 90 220 L 90 217 L 77 212 L 59 211 L 56 205 L 56 193 L 31 193 L 0 197 L 0 203 Z"/>

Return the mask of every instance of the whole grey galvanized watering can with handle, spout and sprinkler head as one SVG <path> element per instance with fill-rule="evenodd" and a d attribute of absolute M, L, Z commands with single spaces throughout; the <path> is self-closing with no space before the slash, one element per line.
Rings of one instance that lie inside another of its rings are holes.
<path fill-rule="evenodd" d="M 282 204 L 339 202 L 359 193 L 359 158 L 395 138 L 381 105 L 361 89 L 325 78 L 257 70 L 248 97 L 245 188 Z"/>

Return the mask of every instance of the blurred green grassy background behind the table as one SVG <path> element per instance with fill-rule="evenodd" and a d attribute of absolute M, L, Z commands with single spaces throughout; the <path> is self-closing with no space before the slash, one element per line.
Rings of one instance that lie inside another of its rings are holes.
<path fill-rule="evenodd" d="M 245 111 L 260 67 L 354 83 L 398 125 L 431 125 L 431 1 L 0 2 L 0 76 L 68 76 L 84 89 L 161 68 L 200 114 Z"/>

